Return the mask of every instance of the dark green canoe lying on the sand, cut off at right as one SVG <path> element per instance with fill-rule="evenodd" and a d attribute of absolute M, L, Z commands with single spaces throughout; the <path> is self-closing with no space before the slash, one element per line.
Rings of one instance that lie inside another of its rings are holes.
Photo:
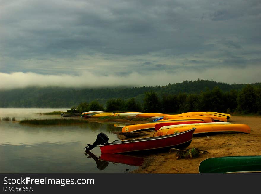
<path fill-rule="evenodd" d="M 225 156 L 200 162 L 199 173 L 257 173 L 261 172 L 261 155 Z"/>

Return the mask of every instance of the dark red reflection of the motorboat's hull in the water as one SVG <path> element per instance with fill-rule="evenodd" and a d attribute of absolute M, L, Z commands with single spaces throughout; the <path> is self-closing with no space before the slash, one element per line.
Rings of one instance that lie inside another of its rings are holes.
<path fill-rule="evenodd" d="M 101 153 L 100 159 L 103 161 L 128 164 L 131 166 L 141 166 L 144 161 L 143 157 L 111 153 Z"/>

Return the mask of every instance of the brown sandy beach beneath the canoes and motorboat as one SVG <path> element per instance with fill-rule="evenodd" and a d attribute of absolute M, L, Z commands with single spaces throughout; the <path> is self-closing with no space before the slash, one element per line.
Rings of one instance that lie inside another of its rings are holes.
<path fill-rule="evenodd" d="M 98 122 L 121 122 L 128 124 L 147 123 L 148 121 L 99 120 Z M 146 155 L 144 163 L 132 173 L 199 173 L 198 166 L 201 161 L 211 157 L 237 156 L 237 155 L 261 155 L 261 117 L 258 116 L 233 116 L 228 122 L 232 124 L 247 124 L 251 128 L 250 134 L 223 133 L 207 134 L 193 137 L 191 144 L 187 147 L 206 150 L 208 153 L 201 154 L 198 158 L 177 159 L 175 152 L 160 152 Z M 152 136 L 154 132 L 146 132 Z M 125 136 L 119 135 L 124 140 Z"/>

